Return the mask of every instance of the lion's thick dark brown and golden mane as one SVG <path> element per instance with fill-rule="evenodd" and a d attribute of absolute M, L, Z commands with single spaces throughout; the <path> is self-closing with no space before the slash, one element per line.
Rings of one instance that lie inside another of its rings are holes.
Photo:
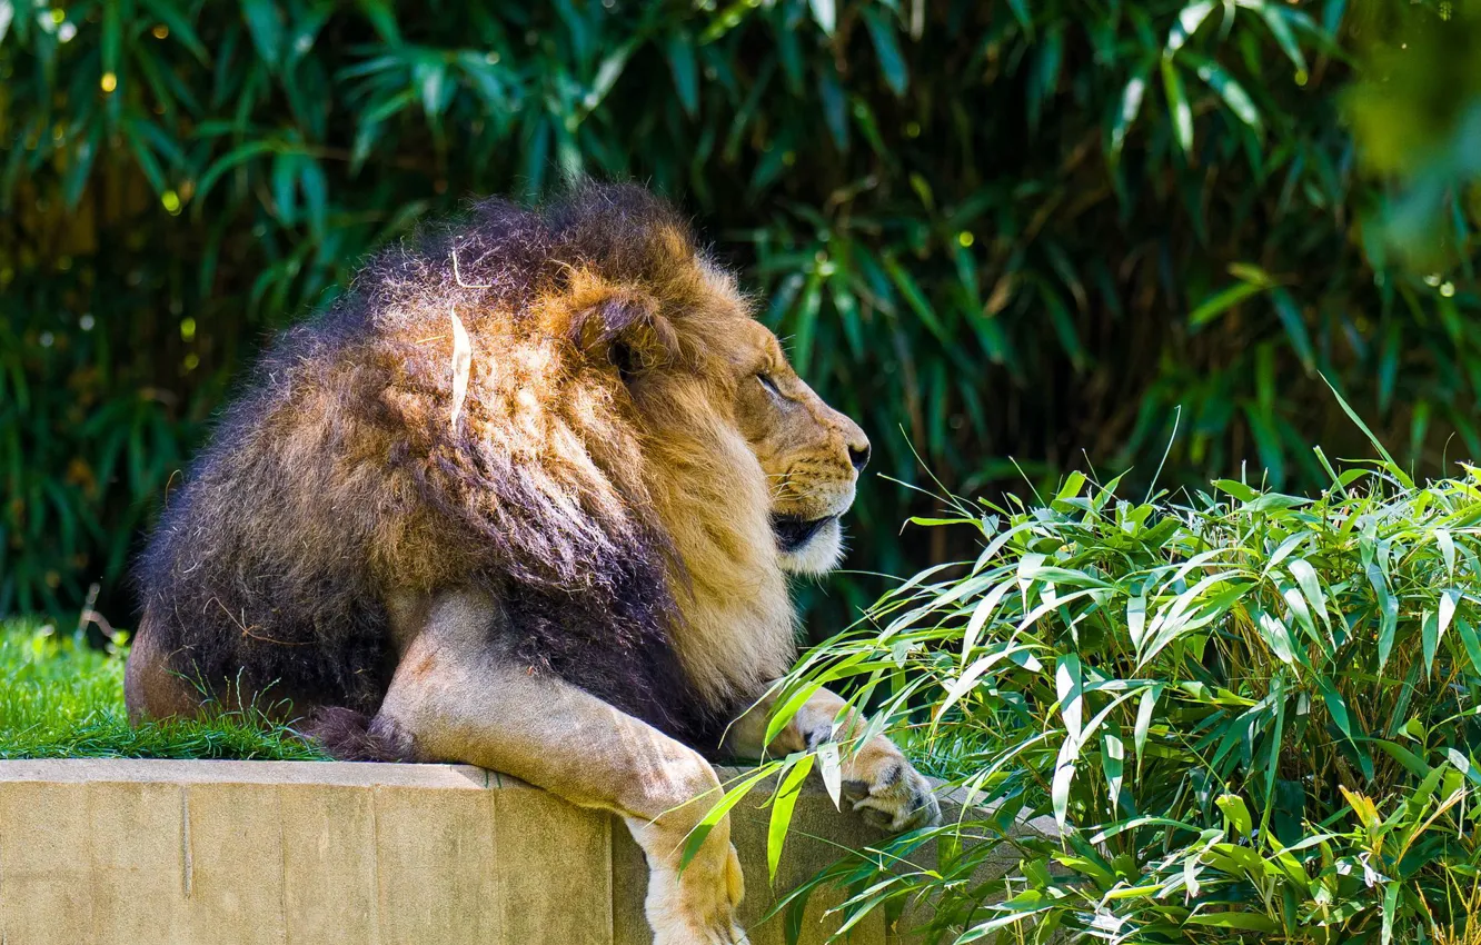
<path fill-rule="evenodd" d="M 373 712 L 388 594 L 477 584 L 509 659 L 711 745 L 738 693 L 696 686 L 678 656 L 695 563 L 665 504 L 689 487 L 662 467 L 715 475 L 698 441 L 712 424 L 665 440 L 624 384 L 655 358 L 705 373 L 706 265 L 631 185 L 480 203 L 382 252 L 277 339 L 166 496 L 138 579 L 169 665 Z M 646 320 L 655 307 L 696 321 Z M 472 350 L 456 419 L 453 315 Z M 764 484 L 717 495 L 754 507 Z"/>

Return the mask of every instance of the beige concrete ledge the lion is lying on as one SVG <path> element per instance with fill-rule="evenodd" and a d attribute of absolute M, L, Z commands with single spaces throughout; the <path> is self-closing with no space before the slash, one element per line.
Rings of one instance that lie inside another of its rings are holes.
<path fill-rule="evenodd" d="M 813 785 L 773 890 L 766 797 L 732 813 L 752 945 L 837 844 L 880 838 Z M 477 767 L 0 761 L 4 945 L 646 945 L 646 887 L 621 821 Z M 804 942 L 835 927 L 813 899 Z M 896 939 L 874 915 L 850 941 Z"/>

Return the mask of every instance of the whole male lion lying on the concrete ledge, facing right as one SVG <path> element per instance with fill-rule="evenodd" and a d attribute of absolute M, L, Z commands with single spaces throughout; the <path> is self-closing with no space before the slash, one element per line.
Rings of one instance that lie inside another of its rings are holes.
<path fill-rule="evenodd" d="M 668 203 L 478 203 L 284 332 L 167 495 L 130 718 L 270 693 L 339 757 L 507 772 L 624 818 L 655 942 L 745 942 L 729 824 L 681 850 L 711 760 L 857 721 L 820 690 L 763 744 L 788 575 L 837 564 L 868 459 Z M 843 778 L 939 816 L 887 738 Z"/>

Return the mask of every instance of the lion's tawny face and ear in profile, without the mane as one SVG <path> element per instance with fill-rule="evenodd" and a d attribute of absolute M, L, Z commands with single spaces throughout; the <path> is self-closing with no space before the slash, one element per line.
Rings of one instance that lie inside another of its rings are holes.
<path fill-rule="evenodd" d="M 567 330 L 598 367 L 616 375 L 661 438 L 675 430 L 733 428 L 749 462 L 726 455 L 724 435 L 705 444 L 687 440 L 690 462 L 718 449 L 729 465 L 711 464 L 706 474 L 723 487 L 746 478 L 764 483 L 766 521 L 782 570 L 831 570 L 843 555 L 840 517 L 853 505 L 869 461 L 868 437 L 797 375 L 727 271 L 686 234 L 659 234 L 653 241 L 669 261 L 665 281 L 613 284 L 579 273 L 560 299 L 566 313 L 575 308 Z M 745 490 L 735 498 L 743 504 Z M 735 505 L 723 502 L 714 511 Z"/>

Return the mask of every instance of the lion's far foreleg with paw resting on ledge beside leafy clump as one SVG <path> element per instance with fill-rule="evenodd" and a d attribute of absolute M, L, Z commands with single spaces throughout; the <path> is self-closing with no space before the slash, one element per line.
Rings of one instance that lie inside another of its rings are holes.
<path fill-rule="evenodd" d="M 767 723 L 776 708 L 779 687 L 735 720 L 726 738 L 727 754 L 742 758 L 778 757 L 812 751 L 828 741 L 853 742 L 863 730 L 863 718 L 837 693 L 819 689 L 764 744 Z M 940 806 L 926 781 L 890 739 L 878 735 L 862 745 L 850 745 L 843 758 L 843 787 L 871 821 L 893 831 L 929 827 L 940 818 Z"/>

